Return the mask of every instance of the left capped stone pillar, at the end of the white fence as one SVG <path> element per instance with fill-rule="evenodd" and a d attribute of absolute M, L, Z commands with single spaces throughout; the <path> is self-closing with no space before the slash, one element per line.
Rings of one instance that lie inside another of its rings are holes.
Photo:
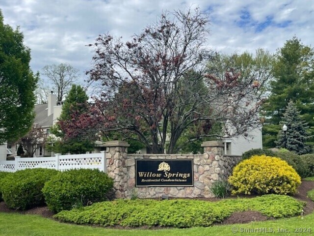
<path fill-rule="evenodd" d="M 130 145 L 125 141 L 105 142 L 107 173 L 113 178 L 116 198 L 125 198 L 125 187 L 129 179 L 127 173 L 127 153 Z"/>

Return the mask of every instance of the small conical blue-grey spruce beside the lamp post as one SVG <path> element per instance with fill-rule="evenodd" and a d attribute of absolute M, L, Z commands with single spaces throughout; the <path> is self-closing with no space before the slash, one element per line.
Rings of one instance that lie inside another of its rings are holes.
<path fill-rule="evenodd" d="M 286 148 L 300 155 L 311 151 L 310 146 L 306 145 L 306 141 L 310 138 L 307 133 L 308 123 L 301 119 L 300 112 L 292 100 L 287 105 L 280 125 L 287 125 L 287 131 L 279 132 L 276 141 L 278 148 Z"/>

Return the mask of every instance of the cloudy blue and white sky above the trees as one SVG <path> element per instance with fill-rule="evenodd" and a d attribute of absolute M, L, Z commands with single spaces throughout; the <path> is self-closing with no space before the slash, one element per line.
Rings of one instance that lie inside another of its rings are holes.
<path fill-rule="evenodd" d="M 31 49 L 31 69 L 70 63 L 80 80 L 92 65 L 100 34 L 131 39 L 163 10 L 199 7 L 210 20 L 207 46 L 232 54 L 263 48 L 271 53 L 294 35 L 314 45 L 313 0 L 0 0 L 4 23 L 19 26 Z"/>

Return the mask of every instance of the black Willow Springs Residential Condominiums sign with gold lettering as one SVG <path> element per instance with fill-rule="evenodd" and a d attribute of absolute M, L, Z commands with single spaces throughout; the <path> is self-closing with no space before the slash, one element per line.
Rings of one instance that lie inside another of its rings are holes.
<path fill-rule="evenodd" d="M 136 187 L 193 186 L 193 160 L 135 160 Z"/>

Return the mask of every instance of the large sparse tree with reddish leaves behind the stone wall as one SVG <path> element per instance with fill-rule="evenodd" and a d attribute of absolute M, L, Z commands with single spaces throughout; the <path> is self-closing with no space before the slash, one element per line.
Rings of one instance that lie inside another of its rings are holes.
<path fill-rule="evenodd" d="M 106 131 L 130 132 L 153 153 L 173 153 L 191 125 L 220 123 L 215 136 L 234 136 L 259 124 L 259 81 L 240 80 L 232 69 L 223 78 L 207 74 L 208 26 L 199 9 L 164 12 L 131 41 L 104 34 L 90 45 L 96 54 L 88 74 L 103 86 Z"/>

